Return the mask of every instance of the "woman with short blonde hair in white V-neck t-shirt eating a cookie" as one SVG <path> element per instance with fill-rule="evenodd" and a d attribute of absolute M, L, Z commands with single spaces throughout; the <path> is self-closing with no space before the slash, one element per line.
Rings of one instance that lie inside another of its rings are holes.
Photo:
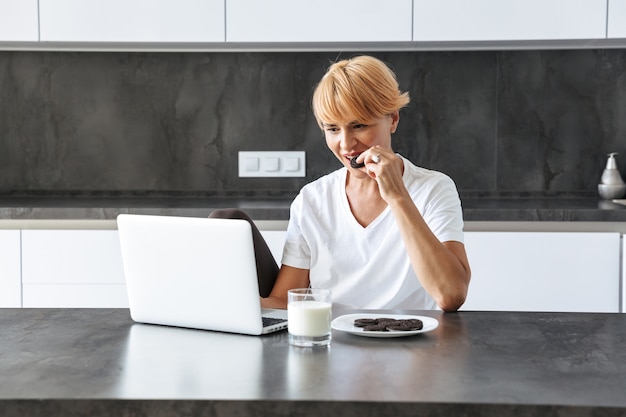
<path fill-rule="evenodd" d="M 332 290 L 333 303 L 348 308 L 453 311 L 463 304 L 470 267 L 456 187 L 391 146 L 408 103 L 376 58 L 328 69 L 313 111 L 343 167 L 293 201 L 282 266 L 263 307 L 286 308 L 287 290 L 309 286 Z"/>

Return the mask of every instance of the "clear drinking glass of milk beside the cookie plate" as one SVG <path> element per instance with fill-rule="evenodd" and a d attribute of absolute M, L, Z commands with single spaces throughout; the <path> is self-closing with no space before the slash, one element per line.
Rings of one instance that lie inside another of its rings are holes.
<path fill-rule="evenodd" d="M 331 332 L 330 290 L 296 288 L 287 293 L 289 343 L 293 346 L 328 346 Z"/>

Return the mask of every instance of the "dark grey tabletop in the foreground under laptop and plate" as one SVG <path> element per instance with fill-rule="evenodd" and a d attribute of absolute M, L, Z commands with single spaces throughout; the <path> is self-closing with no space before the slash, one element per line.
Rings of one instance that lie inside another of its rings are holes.
<path fill-rule="evenodd" d="M 126 309 L 2 309 L 0 414 L 626 416 L 624 314 L 404 313 L 440 325 L 303 349 Z"/>

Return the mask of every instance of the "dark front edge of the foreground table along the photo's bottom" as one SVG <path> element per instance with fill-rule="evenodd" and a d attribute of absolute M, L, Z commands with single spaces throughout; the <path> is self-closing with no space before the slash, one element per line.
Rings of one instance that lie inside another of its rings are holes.
<path fill-rule="evenodd" d="M 593 405 L 498 404 L 472 402 L 382 402 L 342 400 L 237 400 L 237 399 L 0 399 L 7 416 L 92 417 L 117 415 L 273 415 L 337 417 L 396 417 L 420 415 L 455 415 L 462 412 L 475 416 L 546 416 L 570 415 L 592 417 L 602 413 L 611 417 L 626 416 L 626 408 Z"/>

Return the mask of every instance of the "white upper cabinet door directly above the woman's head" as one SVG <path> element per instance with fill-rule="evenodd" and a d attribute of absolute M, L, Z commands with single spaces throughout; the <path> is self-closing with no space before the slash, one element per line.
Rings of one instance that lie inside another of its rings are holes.
<path fill-rule="evenodd" d="M 411 0 L 226 0 L 226 41 L 410 41 L 411 9 Z"/>

